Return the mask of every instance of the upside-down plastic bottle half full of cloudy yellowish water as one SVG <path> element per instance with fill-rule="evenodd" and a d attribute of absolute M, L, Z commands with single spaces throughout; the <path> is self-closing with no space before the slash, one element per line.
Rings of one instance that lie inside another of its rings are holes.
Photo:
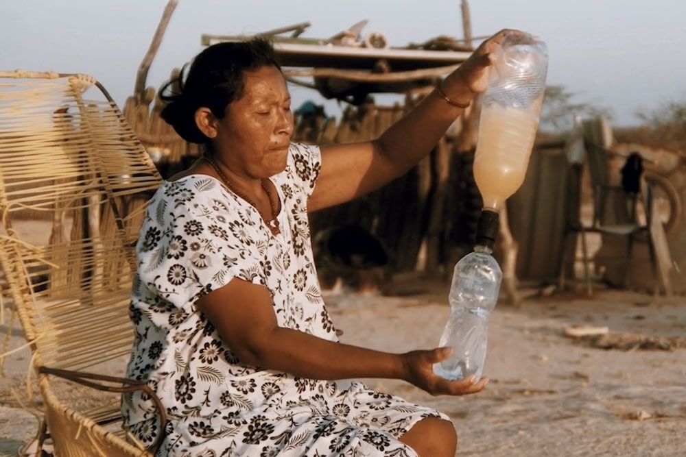
<path fill-rule="evenodd" d="M 484 207 L 500 210 L 524 181 L 539 127 L 548 69 L 540 38 L 508 35 L 495 49 L 474 156 Z"/>

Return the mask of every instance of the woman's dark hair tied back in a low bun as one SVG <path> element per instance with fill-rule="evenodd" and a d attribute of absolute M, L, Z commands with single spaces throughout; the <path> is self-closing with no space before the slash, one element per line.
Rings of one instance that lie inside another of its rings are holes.
<path fill-rule="evenodd" d="M 185 65 L 160 88 L 158 95 L 165 102 L 162 119 L 189 143 L 207 143 L 209 138 L 196 125 L 198 108 L 209 108 L 218 119 L 224 118 L 226 107 L 243 95 L 244 73 L 261 66 L 281 69 L 272 41 L 263 36 L 205 48 L 188 71 Z"/>

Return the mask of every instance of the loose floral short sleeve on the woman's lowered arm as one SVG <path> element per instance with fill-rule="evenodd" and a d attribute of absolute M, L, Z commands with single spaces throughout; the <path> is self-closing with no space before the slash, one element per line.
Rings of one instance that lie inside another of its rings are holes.
<path fill-rule="evenodd" d="M 166 183 L 148 214 L 138 247 L 139 277 L 177 308 L 235 277 L 265 284 L 263 237 L 216 180 L 191 176 Z"/>

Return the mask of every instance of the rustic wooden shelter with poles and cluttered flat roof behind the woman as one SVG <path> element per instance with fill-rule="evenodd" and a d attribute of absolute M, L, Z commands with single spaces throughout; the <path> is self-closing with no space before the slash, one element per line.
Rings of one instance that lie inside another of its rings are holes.
<path fill-rule="evenodd" d="M 195 145 L 182 141 L 161 121 L 161 105 L 154 97 L 154 90 L 144 89 L 147 67 L 175 6 L 176 1 L 167 4 L 150 50 L 141 64 L 134 95 L 124 106 L 126 119 L 150 151 L 163 176 L 185 168 L 200 153 Z M 309 23 L 259 34 L 270 36 L 274 41 L 289 82 L 348 103 L 340 121 L 325 116 L 322 107 L 296 113 L 293 140 L 327 144 L 379 136 L 471 54 L 471 21 L 466 0 L 461 2 L 461 11 L 464 40 L 438 36 L 420 45 L 402 48 L 388 46 L 385 38 L 376 32 L 363 36 L 362 29 L 367 21 L 360 21 L 323 40 L 301 37 Z M 246 38 L 249 37 L 204 35 L 202 44 Z M 172 75 L 177 72 L 174 70 Z M 303 82 L 303 78 L 308 77 L 313 84 Z M 370 94 L 380 92 L 402 94 L 405 103 L 377 106 Z M 475 223 L 481 210 L 481 197 L 471 177 L 479 114 L 478 103 L 475 103 L 475 108 L 465 112 L 428 158 L 389 186 L 337 208 L 312 214 L 313 238 L 328 227 L 355 223 L 377 236 L 387 247 L 394 271 L 451 271 L 453 264 L 472 248 Z M 464 192 L 456 192 L 460 186 Z M 456 196 L 456 193 L 460 195 Z M 519 299 L 514 271 L 517 242 L 510 234 L 506 210 L 501 214 L 501 221 L 499 254 L 504 258 L 505 289 L 510 302 L 514 303 Z"/>

